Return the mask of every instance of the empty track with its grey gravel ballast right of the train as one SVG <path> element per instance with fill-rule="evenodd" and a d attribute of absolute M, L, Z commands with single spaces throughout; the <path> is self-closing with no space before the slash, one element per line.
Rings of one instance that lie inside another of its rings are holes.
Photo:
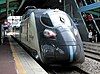
<path fill-rule="evenodd" d="M 100 43 L 83 42 L 85 62 L 79 66 L 89 74 L 100 74 Z"/>

